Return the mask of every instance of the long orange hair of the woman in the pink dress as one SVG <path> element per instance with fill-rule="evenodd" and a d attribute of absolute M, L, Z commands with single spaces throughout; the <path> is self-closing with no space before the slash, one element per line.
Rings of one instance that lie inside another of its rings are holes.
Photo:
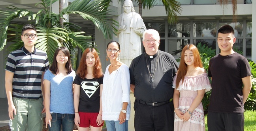
<path fill-rule="evenodd" d="M 184 55 L 185 55 L 185 51 L 186 50 L 191 50 L 193 52 L 194 55 L 194 66 L 195 67 L 203 67 L 202 62 L 201 62 L 201 57 L 200 54 L 198 52 L 198 49 L 196 48 L 196 46 L 194 44 L 187 44 L 181 52 L 181 62 L 179 64 L 179 70 L 177 72 L 177 78 L 176 78 L 176 89 L 179 87 L 179 83 L 182 79 L 182 82 L 184 81 L 184 77 L 186 75 L 187 72 L 187 66 L 184 60 Z"/>

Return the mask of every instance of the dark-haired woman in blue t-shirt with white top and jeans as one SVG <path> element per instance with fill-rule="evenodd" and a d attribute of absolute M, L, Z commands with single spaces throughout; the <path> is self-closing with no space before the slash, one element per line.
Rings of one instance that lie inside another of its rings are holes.
<path fill-rule="evenodd" d="M 46 128 L 49 131 L 73 131 L 73 80 L 70 52 L 66 47 L 55 50 L 53 64 L 44 75 Z M 48 125 L 49 124 L 49 125 Z"/>

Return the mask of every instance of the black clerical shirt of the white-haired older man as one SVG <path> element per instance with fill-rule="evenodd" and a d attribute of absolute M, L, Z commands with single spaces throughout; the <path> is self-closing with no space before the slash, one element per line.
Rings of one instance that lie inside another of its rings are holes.
<path fill-rule="evenodd" d="M 173 77 L 179 68 L 178 63 L 171 54 L 160 50 L 151 57 L 144 52 L 130 65 L 131 84 L 135 85 L 134 96 L 146 102 L 168 101 L 173 98 Z M 153 81 L 149 71 L 154 76 Z"/>

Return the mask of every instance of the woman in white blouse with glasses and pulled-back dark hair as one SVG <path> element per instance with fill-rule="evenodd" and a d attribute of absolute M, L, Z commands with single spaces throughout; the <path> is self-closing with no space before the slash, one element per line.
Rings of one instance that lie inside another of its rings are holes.
<path fill-rule="evenodd" d="M 130 73 L 129 68 L 119 61 L 120 44 L 110 41 L 107 44 L 107 66 L 103 79 L 102 120 L 107 131 L 128 131 L 130 118 Z"/>

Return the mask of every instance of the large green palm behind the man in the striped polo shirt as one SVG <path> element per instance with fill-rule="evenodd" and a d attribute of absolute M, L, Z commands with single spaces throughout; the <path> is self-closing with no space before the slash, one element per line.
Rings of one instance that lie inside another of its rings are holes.
<path fill-rule="evenodd" d="M 10 46 L 9 51 L 17 50 L 23 46 L 21 41 L 21 28 L 23 26 L 12 24 L 13 19 L 21 17 L 27 18 L 28 21 L 31 20 L 36 25 L 38 29 L 36 48 L 47 52 L 50 63 L 53 61 L 52 56 L 58 46 L 66 46 L 70 50 L 79 47 L 82 51 L 92 46 L 90 44 L 92 37 L 85 36 L 85 32 L 79 30 L 79 26 L 68 22 L 64 22 L 62 26 L 60 18 L 63 18 L 63 15 L 78 14 L 85 20 L 93 22 L 106 39 L 111 38 L 115 31 L 112 25 L 117 25 L 117 22 L 107 16 L 107 13 L 110 12 L 107 9 L 109 0 L 75 0 L 68 7 L 62 9 L 59 14 L 51 11 L 51 4 L 56 1 L 41 0 L 41 3 L 38 4 L 41 4 L 44 9 L 37 13 L 15 6 L 7 7 L 8 10 L 0 10 L 2 14 L 0 16 L 0 51 L 3 50 L 7 40 L 15 43 Z M 60 43 L 59 40 L 62 40 L 63 43 Z"/>

